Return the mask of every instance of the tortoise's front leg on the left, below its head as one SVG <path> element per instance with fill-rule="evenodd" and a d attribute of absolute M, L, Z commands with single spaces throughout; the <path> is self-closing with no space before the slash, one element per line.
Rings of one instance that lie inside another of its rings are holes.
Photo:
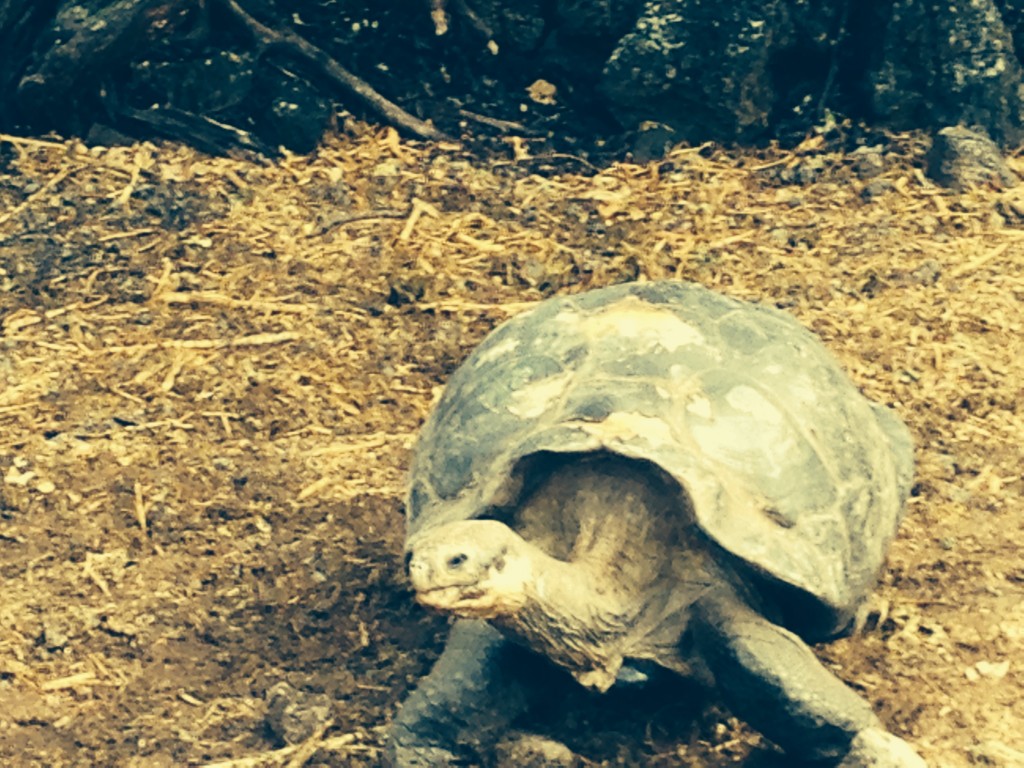
<path fill-rule="evenodd" d="M 530 706 L 542 664 L 485 622 L 461 620 L 401 706 L 387 738 L 394 768 L 470 765 Z"/>

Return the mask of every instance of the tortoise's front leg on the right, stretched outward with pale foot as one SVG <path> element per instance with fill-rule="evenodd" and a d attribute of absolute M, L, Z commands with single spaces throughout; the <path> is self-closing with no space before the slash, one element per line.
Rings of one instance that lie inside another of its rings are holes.
<path fill-rule="evenodd" d="M 927 768 L 800 637 L 734 593 L 701 597 L 691 627 L 725 703 L 787 755 L 838 768 Z"/>

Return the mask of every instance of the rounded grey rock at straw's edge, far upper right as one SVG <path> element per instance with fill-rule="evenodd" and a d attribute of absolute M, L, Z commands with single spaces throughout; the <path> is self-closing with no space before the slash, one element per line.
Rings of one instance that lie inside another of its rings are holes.
<path fill-rule="evenodd" d="M 954 189 L 983 185 L 1000 188 L 1020 181 L 992 139 L 963 126 L 943 128 L 936 134 L 928 154 L 928 175 Z"/>

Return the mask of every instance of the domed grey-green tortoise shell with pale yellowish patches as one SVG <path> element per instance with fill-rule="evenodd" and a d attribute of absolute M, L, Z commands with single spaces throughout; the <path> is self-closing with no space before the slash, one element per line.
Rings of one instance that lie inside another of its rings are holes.
<path fill-rule="evenodd" d="M 455 372 L 413 458 L 409 536 L 514 501 L 525 457 L 592 451 L 659 466 L 712 540 L 837 615 L 874 584 L 913 471 L 906 427 L 793 317 L 627 284 L 538 304 Z"/>

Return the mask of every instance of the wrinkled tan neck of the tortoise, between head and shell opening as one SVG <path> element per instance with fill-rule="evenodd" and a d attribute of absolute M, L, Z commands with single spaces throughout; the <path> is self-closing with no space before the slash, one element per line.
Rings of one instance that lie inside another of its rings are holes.
<path fill-rule="evenodd" d="M 497 627 L 598 690 L 625 657 L 682 668 L 681 635 L 714 563 L 675 481 L 643 462 L 582 458 L 536 485 L 514 527 L 532 578 Z"/>

